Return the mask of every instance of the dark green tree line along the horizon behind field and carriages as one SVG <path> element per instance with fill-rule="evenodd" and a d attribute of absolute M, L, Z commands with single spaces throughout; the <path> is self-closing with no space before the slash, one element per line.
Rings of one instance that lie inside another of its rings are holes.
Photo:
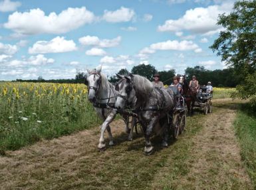
<path fill-rule="evenodd" d="M 170 85 L 172 83 L 172 78 L 177 75 L 176 70 L 168 70 L 168 71 L 158 71 L 152 65 L 138 65 L 134 66 L 131 73 L 142 75 L 153 81 L 154 74 L 158 73 L 160 75 L 160 80 L 163 81 L 164 85 Z M 128 70 L 122 69 L 118 71 L 120 75 L 127 75 L 129 73 Z M 183 73 L 182 73 L 183 74 Z M 186 68 L 185 75 L 188 80 L 192 79 L 192 75 L 197 77 L 200 85 L 207 84 L 208 81 L 211 81 L 213 86 L 215 87 L 236 87 L 242 81 L 241 76 L 237 75 L 233 68 L 227 68 L 224 70 L 206 70 L 202 66 L 195 66 L 194 68 Z M 29 82 L 49 82 L 49 83 L 84 83 L 86 75 L 83 72 L 76 73 L 74 79 L 50 79 L 45 80 L 43 77 L 39 77 L 34 80 L 22 80 L 17 79 L 16 81 L 29 81 Z M 118 77 L 116 75 L 112 75 L 108 78 L 111 83 L 116 83 L 118 81 Z"/>

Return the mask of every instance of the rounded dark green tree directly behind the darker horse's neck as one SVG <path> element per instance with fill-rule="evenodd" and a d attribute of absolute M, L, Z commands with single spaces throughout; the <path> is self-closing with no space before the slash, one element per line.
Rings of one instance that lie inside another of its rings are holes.
<path fill-rule="evenodd" d="M 152 65 L 138 65 L 138 66 L 134 66 L 132 68 L 132 73 L 137 74 L 137 75 L 142 75 L 144 77 L 146 77 L 147 79 L 149 79 L 150 81 L 153 80 L 153 76 L 155 73 L 157 73 L 157 70 L 154 66 Z"/>

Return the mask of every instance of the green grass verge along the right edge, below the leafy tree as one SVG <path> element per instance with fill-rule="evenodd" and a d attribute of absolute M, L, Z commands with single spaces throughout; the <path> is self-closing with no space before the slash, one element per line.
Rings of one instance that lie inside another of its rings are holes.
<path fill-rule="evenodd" d="M 241 157 L 256 189 L 256 114 L 249 104 L 241 105 L 234 122 L 241 146 Z"/>

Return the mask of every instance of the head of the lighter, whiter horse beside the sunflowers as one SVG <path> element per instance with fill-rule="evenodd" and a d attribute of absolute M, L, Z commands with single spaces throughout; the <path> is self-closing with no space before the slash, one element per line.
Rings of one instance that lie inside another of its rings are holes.
<path fill-rule="evenodd" d="M 84 84 L 88 87 L 88 99 L 90 102 L 94 102 L 100 89 L 102 76 L 100 74 L 101 67 L 94 70 L 87 70 Z"/>

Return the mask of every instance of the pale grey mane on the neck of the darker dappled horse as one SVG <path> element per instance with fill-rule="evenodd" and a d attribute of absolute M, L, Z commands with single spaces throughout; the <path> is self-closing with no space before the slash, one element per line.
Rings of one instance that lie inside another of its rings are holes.
<path fill-rule="evenodd" d="M 132 81 L 134 83 L 137 96 L 140 96 L 144 99 L 149 97 L 150 93 L 152 92 L 152 89 L 154 88 L 152 82 L 150 82 L 148 79 L 140 75 L 133 75 Z"/>

